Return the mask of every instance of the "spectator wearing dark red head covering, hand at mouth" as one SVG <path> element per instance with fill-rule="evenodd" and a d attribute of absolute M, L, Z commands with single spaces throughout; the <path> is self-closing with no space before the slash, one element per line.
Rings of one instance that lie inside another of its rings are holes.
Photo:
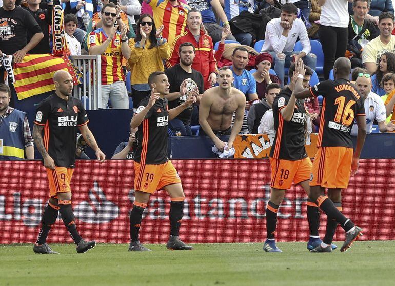
<path fill-rule="evenodd" d="M 281 80 L 277 75 L 270 74 L 271 63 L 273 58 L 269 53 L 259 54 L 255 58 L 256 71 L 252 74 L 256 81 L 256 93 L 259 99 L 265 98 L 266 87 L 271 83 L 281 84 Z"/>

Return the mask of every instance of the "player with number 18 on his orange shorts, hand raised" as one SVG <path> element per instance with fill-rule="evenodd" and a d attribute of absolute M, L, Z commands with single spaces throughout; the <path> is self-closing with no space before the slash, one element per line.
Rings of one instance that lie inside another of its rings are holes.
<path fill-rule="evenodd" d="M 300 184 L 307 195 L 309 194 L 308 180 L 311 161 L 305 150 L 306 110 L 303 100 L 295 99 L 292 93 L 297 78 L 304 79 L 305 68 L 309 69 L 303 65 L 302 60 L 290 66 L 289 76 L 292 76 L 292 81 L 287 88 L 280 91 L 273 102 L 276 133 L 270 150 L 271 192 L 266 208 L 267 239 L 263 246 L 266 252 L 282 252 L 275 244 L 274 232 L 278 209 L 284 199 L 285 191 L 292 186 L 292 181 Z M 318 233 L 320 211 L 318 206 L 309 199 L 307 200 L 307 219 L 310 230 L 308 247 L 316 241 L 320 244 Z"/>

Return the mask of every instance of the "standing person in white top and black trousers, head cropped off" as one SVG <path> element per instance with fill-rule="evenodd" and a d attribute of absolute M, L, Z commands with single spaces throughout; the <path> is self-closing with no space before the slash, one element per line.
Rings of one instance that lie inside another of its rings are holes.
<path fill-rule="evenodd" d="M 352 0 L 318 0 L 321 6 L 318 34 L 324 52 L 324 77 L 329 78 L 335 59 L 346 53 L 348 43 L 348 2 Z"/>

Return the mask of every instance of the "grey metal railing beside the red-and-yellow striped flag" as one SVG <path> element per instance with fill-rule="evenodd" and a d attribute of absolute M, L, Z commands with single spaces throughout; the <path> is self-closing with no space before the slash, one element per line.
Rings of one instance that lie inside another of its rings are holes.
<path fill-rule="evenodd" d="M 81 99 L 85 110 L 98 110 L 102 105 L 102 58 L 100 55 L 71 56 L 82 73 L 82 85 L 74 87 L 73 96 Z"/>

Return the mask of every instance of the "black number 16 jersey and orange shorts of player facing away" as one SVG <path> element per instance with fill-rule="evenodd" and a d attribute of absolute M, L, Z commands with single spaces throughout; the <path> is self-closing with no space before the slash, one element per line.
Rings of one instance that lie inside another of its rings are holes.
<path fill-rule="evenodd" d="M 310 92 L 323 96 L 310 186 L 347 188 L 353 153 L 350 133 L 354 118 L 365 116 L 364 100 L 346 79 L 322 81 Z"/>

